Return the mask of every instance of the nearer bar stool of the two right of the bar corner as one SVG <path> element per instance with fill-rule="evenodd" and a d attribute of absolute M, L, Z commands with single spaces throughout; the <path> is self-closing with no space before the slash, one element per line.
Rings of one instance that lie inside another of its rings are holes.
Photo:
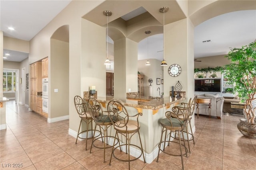
<path fill-rule="evenodd" d="M 190 100 L 191 101 L 191 100 Z M 158 144 L 158 156 L 156 162 L 158 162 L 160 150 L 166 154 L 172 156 L 180 156 L 182 162 L 182 169 L 184 170 L 184 162 L 183 162 L 183 155 L 188 157 L 188 149 L 186 148 L 185 140 L 184 140 L 184 129 L 186 128 L 186 124 L 188 123 L 188 108 L 190 106 L 190 102 L 188 105 L 183 105 L 184 107 L 174 106 L 172 107 L 172 111 L 166 111 L 165 115 L 166 118 L 160 120 L 160 124 L 162 126 L 162 133 L 160 143 Z M 170 131 L 169 138 L 167 137 L 167 131 Z M 165 133 L 164 140 L 163 134 Z M 174 133 L 174 134 L 172 134 Z M 181 143 L 181 137 L 184 144 Z M 178 142 L 176 141 L 176 135 L 178 135 Z M 173 140 L 171 141 L 170 138 Z M 168 140 L 169 139 L 169 140 Z M 180 154 L 172 154 L 165 150 L 165 143 L 178 143 L 180 145 Z M 161 145 L 164 144 L 163 149 L 161 149 Z M 185 153 L 182 153 L 182 147 L 185 149 Z"/>

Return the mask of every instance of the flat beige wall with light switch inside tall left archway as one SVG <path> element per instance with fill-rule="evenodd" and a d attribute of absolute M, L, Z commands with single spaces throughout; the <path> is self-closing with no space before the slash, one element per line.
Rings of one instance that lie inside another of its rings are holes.
<path fill-rule="evenodd" d="M 69 43 L 51 39 L 50 114 L 48 118 L 69 115 Z M 58 89 L 58 92 L 54 92 Z"/>

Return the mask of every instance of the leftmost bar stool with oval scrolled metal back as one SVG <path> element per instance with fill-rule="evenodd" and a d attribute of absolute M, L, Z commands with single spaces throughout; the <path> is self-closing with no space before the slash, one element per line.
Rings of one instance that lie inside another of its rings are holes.
<path fill-rule="evenodd" d="M 86 139 L 85 150 L 87 150 L 87 140 L 92 138 L 92 137 L 88 138 L 89 131 L 93 131 L 93 129 L 92 129 L 92 116 L 87 111 L 86 104 L 85 104 L 84 100 L 80 96 L 75 96 L 74 97 L 74 104 L 75 104 L 75 107 L 76 107 L 76 111 L 77 111 L 77 113 L 78 113 L 78 115 L 79 115 L 79 117 L 81 119 L 80 120 L 80 125 L 79 125 L 79 128 L 78 128 L 77 137 L 76 137 L 76 143 L 77 143 L 77 139 L 78 138 Z M 81 127 L 82 121 L 84 121 L 86 123 L 86 130 L 80 132 L 80 127 Z M 90 123 L 91 123 L 91 130 L 89 130 L 89 124 Z M 81 133 L 86 133 L 86 138 L 80 137 L 79 135 Z"/>

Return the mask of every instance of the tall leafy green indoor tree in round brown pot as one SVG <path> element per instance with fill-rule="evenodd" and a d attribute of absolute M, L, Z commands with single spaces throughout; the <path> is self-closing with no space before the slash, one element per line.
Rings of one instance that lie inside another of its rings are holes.
<path fill-rule="evenodd" d="M 232 48 L 226 57 L 231 63 L 225 66 L 225 76 L 234 84 L 239 97 L 246 101 L 244 114 L 247 119 L 240 119 L 238 129 L 244 136 L 256 139 L 256 42 Z"/>

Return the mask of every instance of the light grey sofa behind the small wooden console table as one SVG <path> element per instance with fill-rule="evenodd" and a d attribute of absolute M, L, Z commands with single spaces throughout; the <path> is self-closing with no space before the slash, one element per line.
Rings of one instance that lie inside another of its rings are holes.
<path fill-rule="evenodd" d="M 218 94 L 200 94 L 200 95 L 195 94 L 195 96 L 197 96 L 197 98 L 211 99 L 211 102 L 212 102 L 211 117 L 217 117 L 218 119 L 221 119 L 223 103 L 224 103 L 223 97 L 219 97 Z M 196 108 L 195 108 L 195 113 L 197 114 Z M 199 114 L 209 115 L 208 104 L 199 104 Z"/>

